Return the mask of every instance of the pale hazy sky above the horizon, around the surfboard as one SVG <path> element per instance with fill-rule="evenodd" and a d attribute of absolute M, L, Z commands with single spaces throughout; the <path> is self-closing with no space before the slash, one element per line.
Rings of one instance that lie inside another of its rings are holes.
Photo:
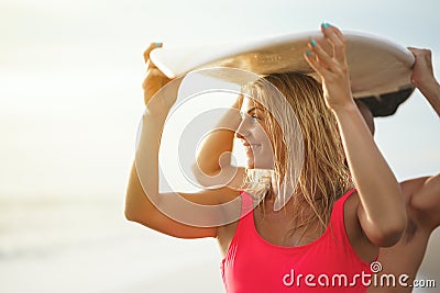
<path fill-rule="evenodd" d="M 437 0 L 0 0 L 0 199 L 123 196 L 143 111 L 143 49 L 345 30 L 433 50 Z M 440 123 L 419 93 L 378 121 L 399 179 L 439 170 Z"/>

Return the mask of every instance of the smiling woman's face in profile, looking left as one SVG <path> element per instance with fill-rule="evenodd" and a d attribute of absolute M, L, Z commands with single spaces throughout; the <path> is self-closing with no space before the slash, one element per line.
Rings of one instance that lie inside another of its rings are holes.
<path fill-rule="evenodd" d="M 267 111 L 252 99 L 244 98 L 241 123 L 235 136 L 243 143 L 250 169 L 273 169 L 274 151 L 267 135 Z"/>

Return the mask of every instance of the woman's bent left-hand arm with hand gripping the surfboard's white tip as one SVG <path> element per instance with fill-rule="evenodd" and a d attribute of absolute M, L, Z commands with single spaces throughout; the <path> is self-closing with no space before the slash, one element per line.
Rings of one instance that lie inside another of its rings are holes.
<path fill-rule="evenodd" d="M 143 83 L 146 110 L 127 190 L 125 217 L 175 237 L 216 237 L 216 223 L 222 223 L 223 214 L 219 209 L 204 206 L 217 206 L 221 203 L 220 199 L 231 200 L 238 195 L 235 191 L 220 189 L 196 194 L 158 192 L 161 134 L 166 115 L 176 100 L 182 79 L 169 82 L 170 80 L 150 63 L 150 52 L 156 47 L 156 44 L 152 44 L 145 52 L 148 63 Z M 158 97 L 152 99 L 160 89 Z"/>

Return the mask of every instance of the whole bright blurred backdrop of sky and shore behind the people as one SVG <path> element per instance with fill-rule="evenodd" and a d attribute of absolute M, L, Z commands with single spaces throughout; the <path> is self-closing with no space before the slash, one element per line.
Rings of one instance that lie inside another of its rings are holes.
<path fill-rule="evenodd" d="M 223 292 L 213 239 L 129 223 L 124 192 L 143 112 L 142 53 L 319 30 L 432 49 L 437 0 L 0 0 L 0 292 Z M 416 91 L 376 120 L 399 180 L 439 171 L 440 120 Z M 440 286 L 439 229 L 419 278 Z M 415 292 L 439 292 L 439 289 Z"/>

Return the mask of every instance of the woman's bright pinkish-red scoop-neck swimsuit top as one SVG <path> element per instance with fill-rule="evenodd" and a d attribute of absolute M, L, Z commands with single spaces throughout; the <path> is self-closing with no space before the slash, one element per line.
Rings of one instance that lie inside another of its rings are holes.
<path fill-rule="evenodd" d="M 243 192 L 242 218 L 221 262 L 227 292 L 365 292 L 372 271 L 353 250 L 343 221 L 344 202 L 353 192 L 334 203 L 321 237 L 298 247 L 263 239 L 254 225 L 252 198 Z"/>

